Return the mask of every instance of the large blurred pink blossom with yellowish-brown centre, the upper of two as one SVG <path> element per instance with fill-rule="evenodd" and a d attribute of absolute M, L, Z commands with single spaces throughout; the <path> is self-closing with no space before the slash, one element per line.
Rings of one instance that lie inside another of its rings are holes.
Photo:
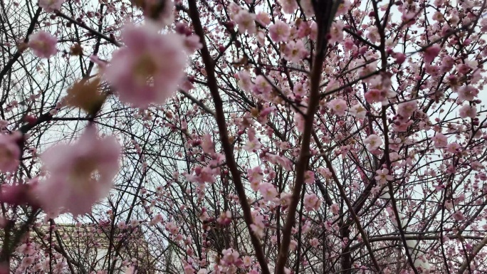
<path fill-rule="evenodd" d="M 135 107 L 164 103 L 184 78 L 184 38 L 174 33 L 159 34 L 152 24 L 128 24 L 122 30 L 122 41 L 125 47 L 113 53 L 105 79 L 122 102 Z"/>

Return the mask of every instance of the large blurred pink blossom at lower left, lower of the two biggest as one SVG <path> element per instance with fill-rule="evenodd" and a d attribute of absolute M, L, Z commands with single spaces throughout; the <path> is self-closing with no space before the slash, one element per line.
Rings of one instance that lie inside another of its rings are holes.
<path fill-rule="evenodd" d="M 112 187 L 118 172 L 120 145 L 114 137 L 100 138 L 88 127 L 74 144 L 58 144 L 41 155 L 48 179 L 33 193 L 49 214 L 88 213 Z"/>

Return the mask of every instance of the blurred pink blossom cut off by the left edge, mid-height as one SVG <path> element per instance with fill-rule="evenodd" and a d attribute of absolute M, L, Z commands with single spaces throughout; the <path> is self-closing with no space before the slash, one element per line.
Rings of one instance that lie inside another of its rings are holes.
<path fill-rule="evenodd" d="M 19 167 L 21 150 L 18 140 L 21 136 L 0 134 L 0 172 L 15 172 Z"/>

